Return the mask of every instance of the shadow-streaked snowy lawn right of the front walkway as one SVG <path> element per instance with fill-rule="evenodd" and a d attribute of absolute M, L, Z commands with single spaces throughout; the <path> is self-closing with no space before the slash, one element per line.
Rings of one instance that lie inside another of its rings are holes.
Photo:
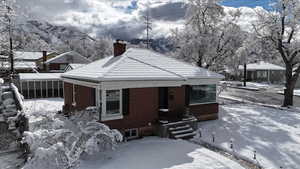
<path fill-rule="evenodd" d="M 199 123 L 202 139 L 238 155 L 257 160 L 265 168 L 298 169 L 300 166 L 300 113 L 258 105 L 225 105 L 220 119 Z"/>

